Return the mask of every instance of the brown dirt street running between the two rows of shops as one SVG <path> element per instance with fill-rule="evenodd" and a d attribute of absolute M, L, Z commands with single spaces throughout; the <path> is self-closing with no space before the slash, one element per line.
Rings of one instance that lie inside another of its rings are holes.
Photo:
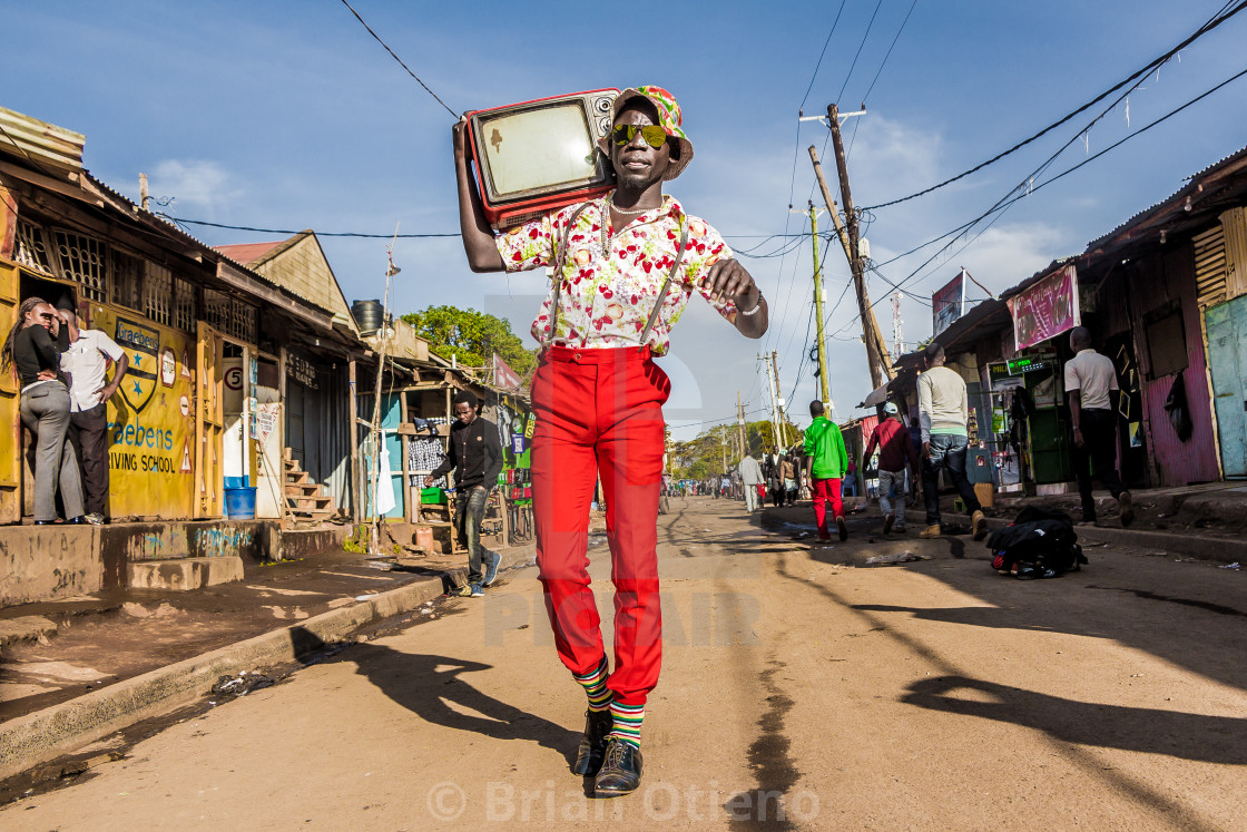
<path fill-rule="evenodd" d="M 584 694 L 532 568 L 454 614 L 222 704 L 9 830 L 1243 828 L 1247 593 L 1205 563 L 1087 550 L 996 575 L 981 544 L 812 549 L 741 504 L 660 518 L 666 647 L 637 793 L 567 771 Z M 609 556 L 595 588 L 610 616 Z M 932 560 L 867 568 L 872 555 Z M 590 821 L 590 823 L 585 823 Z"/>

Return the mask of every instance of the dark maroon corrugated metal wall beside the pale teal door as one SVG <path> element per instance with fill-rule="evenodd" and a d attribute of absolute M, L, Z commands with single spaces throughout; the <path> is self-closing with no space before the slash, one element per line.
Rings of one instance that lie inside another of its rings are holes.
<path fill-rule="evenodd" d="M 1150 425 L 1152 464 L 1160 485 L 1186 485 L 1216 480 L 1216 440 L 1212 432 L 1212 393 L 1208 389 L 1206 356 L 1200 327 L 1200 308 L 1195 289 L 1195 248 L 1191 243 L 1175 247 L 1156 257 L 1140 261 L 1131 269 L 1129 298 L 1130 322 L 1139 346 L 1137 359 L 1143 373 L 1143 413 Z M 1151 378 L 1151 356 L 1143 329 L 1145 317 L 1171 302 L 1181 304 L 1182 326 L 1186 331 L 1186 348 L 1190 365 L 1182 372 L 1186 382 L 1186 400 L 1195 428 L 1187 442 L 1177 438 L 1165 399 L 1173 387 L 1176 375 Z M 1126 304 L 1109 303 L 1114 329 L 1117 328 L 1117 308 Z"/>

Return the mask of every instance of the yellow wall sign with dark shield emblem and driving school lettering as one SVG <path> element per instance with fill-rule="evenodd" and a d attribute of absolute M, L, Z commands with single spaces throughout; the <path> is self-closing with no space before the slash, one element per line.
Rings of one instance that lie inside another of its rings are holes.
<path fill-rule="evenodd" d="M 130 370 L 107 407 L 110 513 L 192 516 L 195 412 L 185 362 L 195 354 L 193 343 L 137 312 L 96 303 L 90 326 L 130 356 Z"/>

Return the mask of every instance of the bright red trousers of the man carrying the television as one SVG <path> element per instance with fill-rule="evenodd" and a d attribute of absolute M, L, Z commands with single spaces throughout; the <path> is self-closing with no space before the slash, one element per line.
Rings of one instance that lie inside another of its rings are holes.
<path fill-rule="evenodd" d="M 532 377 L 532 510 L 537 568 L 559 657 L 574 674 L 606 655 L 589 584 L 589 510 L 601 475 L 615 584 L 615 670 L 621 705 L 645 705 L 662 664 L 658 494 L 662 404 L 671 382 L 647 347 L 550 347 Z"/>

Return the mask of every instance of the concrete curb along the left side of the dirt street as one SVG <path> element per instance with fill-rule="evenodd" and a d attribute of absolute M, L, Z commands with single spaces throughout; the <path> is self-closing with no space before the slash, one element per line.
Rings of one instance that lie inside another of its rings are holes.
<path fill-rule="evenodd" d="M 531 544 L 503 550 L 500 569 L 526 564 L 534 550 Z M 340 641 L 369 624 L 410 612 L 443 595 L 448 580 L 461 583 L 465 571 L 454 569 L 445 576 L 418 579 L 367 601 L 322 612 L 6 722 L 0 726 L 0 780 L 186 705 L 208 692 L 221 676 L 293 661 L 322 642 Z"/>

